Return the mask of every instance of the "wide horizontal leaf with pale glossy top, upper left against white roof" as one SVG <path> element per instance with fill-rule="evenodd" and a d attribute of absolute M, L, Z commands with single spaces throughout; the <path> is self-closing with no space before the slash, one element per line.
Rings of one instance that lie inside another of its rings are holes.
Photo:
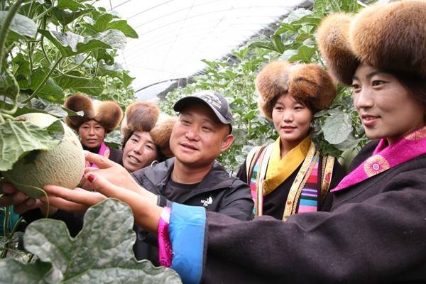
<path fill-rule="evenodd" d="M 98 49 L 122 49 L 126 45 L 126 35 L 117 30 L 108 30 L 87 37 L 69 31 L 59 33 L 57 31 L 39 30 L 39 33 L 48 38 L 64 57 Z"/>

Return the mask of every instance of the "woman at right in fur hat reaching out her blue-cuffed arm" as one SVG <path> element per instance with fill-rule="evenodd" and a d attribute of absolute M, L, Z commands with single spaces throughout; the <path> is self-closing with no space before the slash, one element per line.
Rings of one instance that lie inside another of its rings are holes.
<path fill-rule="evenodd" d="M 202 207 L 161 208 L 87 174 L 158 231 L 163 263 L 185 283 L 426 283 L 426 1 L 330 16 L 318 39 L 375 140 L 332 190 L 330 212 L 241 222 Z"/>

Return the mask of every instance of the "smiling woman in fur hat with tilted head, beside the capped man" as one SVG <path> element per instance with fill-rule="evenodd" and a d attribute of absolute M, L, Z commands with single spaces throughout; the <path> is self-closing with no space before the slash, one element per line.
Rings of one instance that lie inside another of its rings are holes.
<path fill-rule="evenodd" d="M 169 141 L 176 119 L 160 114 L 152 102 L 135 102 L 126 109 L 123 133 L 123 166 L 129 172 L 173 156 Z"/>

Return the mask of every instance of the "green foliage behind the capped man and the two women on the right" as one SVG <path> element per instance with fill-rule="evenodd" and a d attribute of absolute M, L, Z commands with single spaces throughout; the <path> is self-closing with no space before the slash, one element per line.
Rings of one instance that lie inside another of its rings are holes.
<path fill-rule="evenodd" d="M 212 89 L 224 94 L 234 113 L 233 146 L 222 153 L 219 161 L 231 171 L 238 170 L 253 146 L 261 146 L 278 137 L 273 124 L 267 121 L 257 107 L 258 95 L 254 89 L 256 74 L 271 60 L 289 62 L 316 62 L 324 66 L 318 51 L 315 32 L 322 18 L 328 13 L 360 9 L 355 0 L 316 0 L 312 11 L 296 9 L 278 26 L 270 38 L 256 38 L 232 57 L 224 60 L 203 60 L 203 75 L 193 78 L 192 84 L 170 92 L 160 105 L 173 114 L 173 104 L 180 97 L 200 89 Z M 313 121 L 315 142 L 324 154 L 339 157 L 366 143 L 364 129 L 352 102 L 351 90 L 339 86 L 339 94 L 332 107 L 320 111 Z"/>

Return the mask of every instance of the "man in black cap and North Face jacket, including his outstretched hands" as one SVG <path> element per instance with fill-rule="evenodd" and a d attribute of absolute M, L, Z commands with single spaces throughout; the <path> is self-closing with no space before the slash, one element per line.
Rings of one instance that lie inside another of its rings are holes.
<path fill-rule="evenodd" d="M 226 99 L 217 92 L 201 91 L 180 99 L 174 109 L 180 113 L 170 136 L 170 149 L 174 158 L 136 170 L 131 175 L 121 165 L 100 155 L 87 153 L 86 159 L 99 166 L 99 170 L 95 170 L 98 175 L 103 175 L 115 185 L 148 197 L 161 207 L 170 202 L 179 202 L 202 206 L 208 211 L 220 212 L 236 219 L 250 220 L 253 200 L 249 185 L 229 176 L 216 161 L 217 156 L 234 141 L 231 134 L 232 114 Z M 88 181 L 82 187 L 96 190 L 91 188 L 91 182 Z M 60 192 L 52 191 L 50 187 L 45 187 L 45 190 L 51 196 L 55 193 L 60 195 Z M 70 234 L 75 236 L 82 228 L 82 219 L 73 216 L 73 212 L 84 211 L 87 205 L 96 204 L 104 197 L 98 192 L 70 191 L 65 188 L 56 190 L 81 195 L 85 200 L 82 204 L 76 204 L 60 197 L 50 197 L 50 205 L 60 209 L 61 217 L 54 218 L 64 220 Z M 56 212 L 57 209 L 50 211 Z M 158 249 L 153 247 L 157 245 L 157 236 L 138 226 L 135 226 L 135 231 L 138 236 L 133 247 L 136 258 L 147 258 L 158 265 Z"/>

